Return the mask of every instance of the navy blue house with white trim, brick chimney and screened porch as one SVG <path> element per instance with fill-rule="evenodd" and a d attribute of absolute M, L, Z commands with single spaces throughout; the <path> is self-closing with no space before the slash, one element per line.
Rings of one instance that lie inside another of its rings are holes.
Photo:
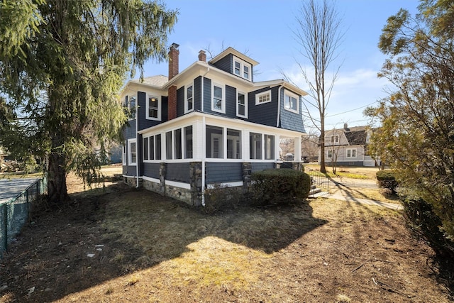
<path fill-rule="evenodd" d="M 245 187 L 250 173 L 279 167 L 279 141 L 294 139 L 301 159 L 302 96 L 283 79 L 254 82 L 258 62 L 227 48 L 179 72 L 172 44 L 169 75 L 131 80 L 121 92 L 131 109 L 125 128 L 123 177 L 128 184 L 191 205 L 221 184 Z M 299 161 L 292 164 L 298 167 Z"/>

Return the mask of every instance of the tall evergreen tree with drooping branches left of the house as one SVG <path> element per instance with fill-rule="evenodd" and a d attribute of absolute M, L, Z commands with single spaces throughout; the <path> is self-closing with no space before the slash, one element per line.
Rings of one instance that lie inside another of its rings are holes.
<path fill-rule="evenodd" d="M 176 18 L 155 1 L 1 2 L 0 92 L 14 114 L 0 145 L 48 159 L 51 202 L 68 198 L 71 170 L 97 176 L 126 123 L 118 92 L 147 60 L 165 60 Z"/>

